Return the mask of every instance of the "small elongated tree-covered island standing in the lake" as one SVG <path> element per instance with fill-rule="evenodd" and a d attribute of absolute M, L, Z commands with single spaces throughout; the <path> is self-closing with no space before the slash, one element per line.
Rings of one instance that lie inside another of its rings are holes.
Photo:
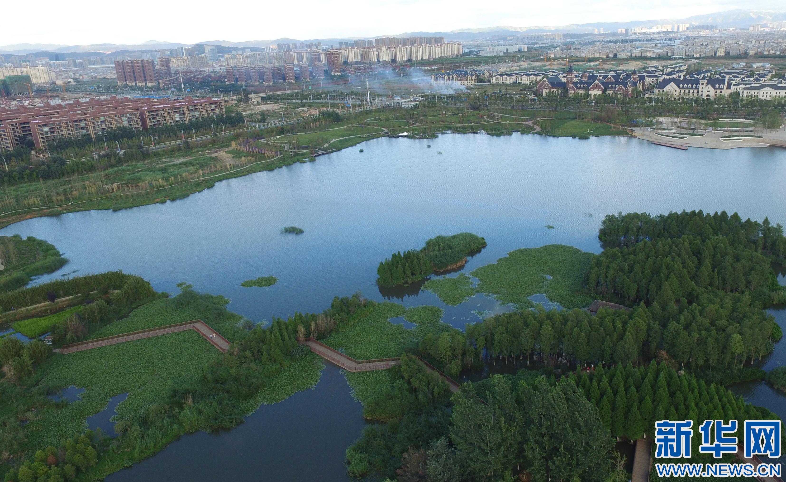
<path fill-rule="evenodd" d="M 432 273 L 460 268 L 467 263 L 467 256 L 485 247 L 486 240 L 472 233 L 432 237 L 420 250 L 396 252 L 385 258 L 376 269 L 376 284 L 404 285 Z"/>

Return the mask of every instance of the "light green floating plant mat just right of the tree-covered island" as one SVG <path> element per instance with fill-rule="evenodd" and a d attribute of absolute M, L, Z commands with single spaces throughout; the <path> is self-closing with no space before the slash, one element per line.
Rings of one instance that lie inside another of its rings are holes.
<path fill-rule="evenodd" d="M 566 245 L 522 248 L 470 274 L 479 279 L 478 293 L 493 294 L 501 303 L 527 307 L 532 305 L 529 296 L 545 293 L 563 307 L 586 307 L 592 302 L 586 293 L 586 270 L 594 256 Z"/>

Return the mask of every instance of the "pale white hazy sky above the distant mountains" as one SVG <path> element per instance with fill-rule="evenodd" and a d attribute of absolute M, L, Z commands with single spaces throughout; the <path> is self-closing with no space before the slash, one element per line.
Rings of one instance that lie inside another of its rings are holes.
<path fill-rule="evenodd" d="M 783 0 L 39 0 L 31 5 L 32 12 L 2 21 L 0 45 L 135 44 L 152 39 L 182 43 L 281 37 L 325 39 L 496 25 L 526 27 L 684 18 L 729 9 L 784 9 Z"/>

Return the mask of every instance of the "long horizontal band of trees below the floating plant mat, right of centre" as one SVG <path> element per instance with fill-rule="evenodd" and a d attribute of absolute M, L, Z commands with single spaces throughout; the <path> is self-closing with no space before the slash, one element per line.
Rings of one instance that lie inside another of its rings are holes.
<path fill-rule="evenodd" d="M 695 370 L 727 370 L 740 366 L 740 357 L 756 359 L 772 350 L 775 322 L 764 311 L 729 311 L 723 322 L 711 326 L 704 315 L 714 309 L 685 307 L 665 327 L 643 304 L 630 312 L 601 309 L 595 316 L 578 309 L 502 313 L 468 325 L 465 333 L 429 333 L 418 351 L 454 377 L 477 368 L 483 359 L 625 365 L 646 362 L 659 353 Z M 754 318 L 731 321 L 740 316 Z"/>

